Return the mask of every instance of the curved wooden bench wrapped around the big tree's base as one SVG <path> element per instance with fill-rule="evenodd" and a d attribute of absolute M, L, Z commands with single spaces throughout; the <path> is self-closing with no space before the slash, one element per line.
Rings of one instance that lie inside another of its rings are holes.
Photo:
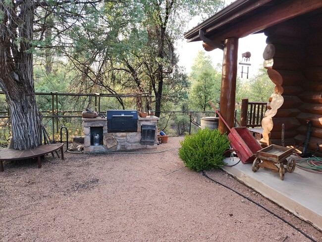
<path fill-rule="evenodd" d="M 3 172 L 3 161 L 16 161 L 25 160 L 37 157 L 38 168 L 41 168 L 40 157 L 54 151 L 60 150 L 61 159 L 64 159 L 63 143 L 58 144 L 45 144 L 30 150 L 14 150 L 14 149 L 1 149 L 0 150 L 0 172 Z"/>

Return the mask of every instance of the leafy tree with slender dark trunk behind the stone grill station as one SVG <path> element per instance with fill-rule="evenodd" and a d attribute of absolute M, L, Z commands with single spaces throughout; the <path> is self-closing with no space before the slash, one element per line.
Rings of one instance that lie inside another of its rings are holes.
<path fill-rule="evenodd" d="M 98 27 L 93 28 L 97 20 L 89 14 L 88 21 L 71 30 L 72 48 L 77 51 L 65 54 L 82 73 L 77 78 L 82 86 L 110 93 L 149 92 L 155 96 L 158 116 L 161 101 L 173 101 L 178 93 L 173 87 L 187 86 L 177 66 L 174 41 L 182 38 L 191 16 L 213 14 L 222 6 L 221 0 L 113 2 L 99 10 Z"/>

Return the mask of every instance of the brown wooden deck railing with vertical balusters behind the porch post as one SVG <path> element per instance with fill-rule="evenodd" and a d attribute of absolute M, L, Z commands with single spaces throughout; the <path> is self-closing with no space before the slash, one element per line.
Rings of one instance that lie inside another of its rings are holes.
<path fill-rule="evenodd" d="M 242 99 L 240 123 L 246 127 L 261 127 L 262 119 L 267 110 L 267 102 L 248 102 Z"/>

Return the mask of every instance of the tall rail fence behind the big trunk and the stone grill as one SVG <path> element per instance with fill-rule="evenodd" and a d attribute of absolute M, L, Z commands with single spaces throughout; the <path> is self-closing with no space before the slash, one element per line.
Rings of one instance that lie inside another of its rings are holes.
<path fill-rule="evenodd" d="M 4 95 L 0 92 L 0 95 Z M 87 108 L 92 107 L 98 113 L 104 110 L 104 114 L 107 109 L 137 109 L 137 104 L 140 103 L 143 109 L 148 109 L 149 102 L 153 96 L 148 93 L 141 94 L 102 94 L 102 93 L 58 93 L 58 92 L 36 92 L 36 101 L 38 109 L 43 118 L 43 123 L 49 133 L 52 135 L 53 140 L 58 140 L 59 129 L 61 126 L 66 126 L 66 122 L 78 125 L 81 128 L 81 113 Z M 44 100 L 41 100 L 44 97 Z M 107 99 L 117 99 L 113 101 L 113 105 L 108 105 Z M 132 99 L 129 102 L 123 102 L 124 99 Z M 123 107 L 122 107 L 122 105 Z M 6 104 L 0 104 L 1 109 L 6 111 L 0 111 L 0 142 L 2 140 L 8 140 L 10 136 L 9 126 L 9 113 Z M 73 105 L 73 106 L 72 106 Z M 75 110 L 63 110 L 64 107 L 74 107 Z M 80 111 L 77 111 L 80 110 Z M 6 128 L 6 129 L 5 129 Z M 1 137 L 2 136 L 2 137 Z"/>

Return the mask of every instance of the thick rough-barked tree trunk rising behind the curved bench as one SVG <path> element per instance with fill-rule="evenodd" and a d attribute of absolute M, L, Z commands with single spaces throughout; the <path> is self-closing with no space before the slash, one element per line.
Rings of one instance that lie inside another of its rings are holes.
<path fill-rule="evenodd" d="M 33 80 L 33 54 L 30 50 L 34 17 L 32 3 L 32 0 L 26 0 L 19 5 L 19 9 L 0 5 L 5 13 L 4 20 L 15 19 L 19 15 L 16 26 L 11 21 L 0 24 L 0 87 L 10 112 L 10 148 L 17 150 L 31 149 L 41 144 Z M 19 35 L 21 42 L 11 45 L 16 41 L 15 34 Z"/>

